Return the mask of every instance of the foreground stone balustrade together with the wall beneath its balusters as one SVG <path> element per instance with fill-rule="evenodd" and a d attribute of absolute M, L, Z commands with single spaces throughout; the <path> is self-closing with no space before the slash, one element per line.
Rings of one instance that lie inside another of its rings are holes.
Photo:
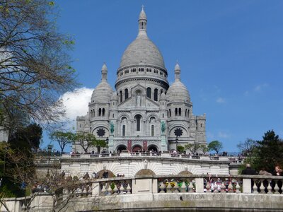
<path fill-rule="evenodd" d="M 97 208 L 143 211 L 145 208 L 172 210 L 207 208 L 226 211 L 283 210 L 283 177 L 260 175 L 144 175 L 113 177 L 76 182 L 77 189 L 64 195 L 74 196 L 75 211 L 93 210 L 89 202 L 96 200 Z M 31 198 L 31 197 L 28 197 Z M 31 211 L 50 211 L 52 196 L 48 192 L 33 197 Z M 81 200 L 79 200 L 81 199 Z M 1 199 L 12 211 L 24 211 L 23 198 Z M 99 201 L 98 201 L 99 200 Z M 183 203 L 182 203 L 183 201 Z M 101 205 L 99 205 L 101 204 Z M 3 206 L 0 210 L 5 210 Z M 66 209 L 68 210 L 68 208 Z M 212 210 L 212 211 L 213 211 Z"/>

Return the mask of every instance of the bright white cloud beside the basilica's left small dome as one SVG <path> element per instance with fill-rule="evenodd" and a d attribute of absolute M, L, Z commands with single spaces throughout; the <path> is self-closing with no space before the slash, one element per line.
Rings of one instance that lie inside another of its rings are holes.
<path fill-rule="evenodd" d="M 83 116 L 88 112 L 88 102 L 91 101 L 93 88 L 76 88 L 72 92 L 62 95 L 66 117 L 71 121 L 76 121 L 77 116 Z"/>

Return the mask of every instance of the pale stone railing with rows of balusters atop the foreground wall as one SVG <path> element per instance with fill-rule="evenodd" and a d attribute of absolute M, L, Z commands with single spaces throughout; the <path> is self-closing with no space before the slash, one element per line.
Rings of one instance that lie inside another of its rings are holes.
<path fill-rule="evenodd" d="M 283 194 L 283 177 L 262 175 L 160 175 L 98 179 L 100 196 L 144 193 Z"/>

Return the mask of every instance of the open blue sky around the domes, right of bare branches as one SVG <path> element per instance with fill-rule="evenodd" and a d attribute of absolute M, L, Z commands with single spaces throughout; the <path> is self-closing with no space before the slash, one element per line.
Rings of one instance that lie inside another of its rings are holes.
<path fill-rule="evenodd" d="M 114 88 L 122 54 L 137 36 L 143 4 L 148 35 L 163 54 L 168 81 L 173 83 L 178 60 L 193 113 L 207 114 L 208 142 L 219 140 L 232 152 L 240 141 L 261 139 L 269 129 L 283 138 L 283 1 L 55 3 L 59 30 L 75 38 L 73 66 L 88 95 L 100 82 L 103 62 Z M 85 110 L 81 107 L 79 115 L 85 114 L 87 100 Z"/>

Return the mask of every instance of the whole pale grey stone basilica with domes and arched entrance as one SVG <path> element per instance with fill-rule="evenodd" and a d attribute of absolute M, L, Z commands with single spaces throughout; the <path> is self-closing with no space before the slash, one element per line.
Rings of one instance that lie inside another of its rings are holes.
<path fill-rule="evenodd" d="M 192 113 L 192 102 L 175 65 L 175 81 L 168 73 L 161 52 L 149 39 L 144 8 L 139 31 L 127 47 L 117 69 L 115 89 L 108 83 L 103 64 L 101 81 L 93 90 L 88 113 L 76 118 L 76 130 L 108 142 L 108 152 L 173 151 L 177 145 L 206 144 L 205 114 Z M 79 145 L 73 151 L 83 152 Z M 96 150 L 103 151 L 103 150 Z"/>

